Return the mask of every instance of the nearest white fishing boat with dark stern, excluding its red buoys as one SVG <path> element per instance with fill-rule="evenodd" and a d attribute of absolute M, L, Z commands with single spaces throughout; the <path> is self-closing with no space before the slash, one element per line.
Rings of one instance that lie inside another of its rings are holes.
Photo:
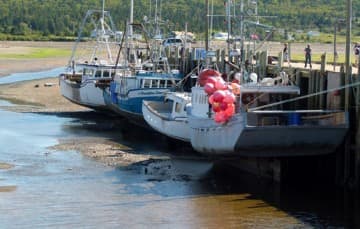
<path fill-rule="evenodd" d="M 297 156 L 334 152 L 349 128 L 347 112 L 301 110 L 300 89 L 275 80 L 244 83 L 234 113 L 215 121 L 204 87 L 193 87 L 188 112 L 192 147 L 207 155 Z M 216 118 L 215 118 L 216 119 Z"/>

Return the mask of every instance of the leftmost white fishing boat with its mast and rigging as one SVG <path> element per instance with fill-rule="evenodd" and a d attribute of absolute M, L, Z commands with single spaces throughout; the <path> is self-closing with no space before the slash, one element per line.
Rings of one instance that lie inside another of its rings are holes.
<path fill-rule="evenodd" d="M 117 50 L 121 33 L 117 32 L 109 11 L 89 10 L 79 29 L 65 72 L 59 76 L 61 94 L 73 103 L 95 110 L 107 109 L 98 83 L 112 80 L 117 68 Z M 86 25 L 94 24 L 90 37 L 84 37 Z"/>

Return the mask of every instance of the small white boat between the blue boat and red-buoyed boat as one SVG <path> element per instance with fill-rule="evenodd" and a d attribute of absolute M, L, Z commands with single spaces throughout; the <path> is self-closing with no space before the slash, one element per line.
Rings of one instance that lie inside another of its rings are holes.
<path fill-rule="evenodd" d="M 168 92 L 164 101 L 143 101 L 145 121 L 154 130 L 177 140 L 190 141 L 190 127 L 186 107 L 191 95 L 186 92 Z"/>

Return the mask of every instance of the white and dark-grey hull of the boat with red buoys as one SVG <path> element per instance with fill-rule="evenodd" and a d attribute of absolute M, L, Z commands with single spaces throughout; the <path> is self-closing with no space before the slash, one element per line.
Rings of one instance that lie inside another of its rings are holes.
<path fill-rule="evenodd" d="M 248 126 L 243 115 L 228 123 L 189 118 L 191 144 L 207 155 L 283 157 L 321 155 L 334 152 L 348 131 L 339 125 Z"/>

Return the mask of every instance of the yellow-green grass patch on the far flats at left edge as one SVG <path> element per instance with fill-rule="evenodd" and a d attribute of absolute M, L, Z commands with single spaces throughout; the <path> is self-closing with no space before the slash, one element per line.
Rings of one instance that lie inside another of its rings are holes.
<path fill-rule="evenodd" d="M 0 53 L 2 59 L 40 59 L 50 57 L 67 57 L 71 51 L 58 48 L 26 48 L 24 52 Z"/>

